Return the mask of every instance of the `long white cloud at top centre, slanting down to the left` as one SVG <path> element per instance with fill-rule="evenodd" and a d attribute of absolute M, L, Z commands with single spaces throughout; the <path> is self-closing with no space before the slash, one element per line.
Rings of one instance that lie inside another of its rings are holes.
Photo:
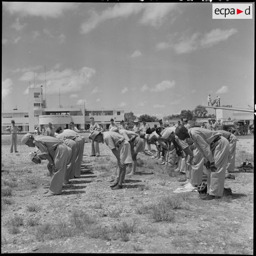
<path fill-rule="evenodd" d="M 124 19 L 141 11 L 143 11 L 139 20 L 141 24 L 159 26 L 167 14 L 173 11 L 175 5 L 174 3 L 161 3 L 160 5 L 155 5 L 155 3 L 119 3 L 100 14 L 90 11 L 91 17 L 81 24 L 80 33 L 89 33 L 103 22 L 117 18 Z"/>

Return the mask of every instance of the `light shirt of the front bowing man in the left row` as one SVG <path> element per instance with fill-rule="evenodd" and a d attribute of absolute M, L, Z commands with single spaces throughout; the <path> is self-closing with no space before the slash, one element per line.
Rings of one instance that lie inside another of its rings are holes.
<path fill-rule="evenodd" d="M 55 137 L 39 135 L 34 137 L 33 143 L 39 148 L 42 154 L 50 155 L 54 158 L 56 146 L 62 144 L 62 141 Z"/>

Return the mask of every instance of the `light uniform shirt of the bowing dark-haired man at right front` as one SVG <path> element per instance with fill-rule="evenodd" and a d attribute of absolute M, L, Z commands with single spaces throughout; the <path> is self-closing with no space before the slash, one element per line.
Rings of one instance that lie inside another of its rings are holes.
<path fill-rule="evenodd" d="M 193 140 L 195 146 L 203 154 L 206 161 L 214 162 L 210 145 L 214 139 L 221 134 L 218 131 L 210 131 L 205 128 L 190 128 L 189 136 Z"/>

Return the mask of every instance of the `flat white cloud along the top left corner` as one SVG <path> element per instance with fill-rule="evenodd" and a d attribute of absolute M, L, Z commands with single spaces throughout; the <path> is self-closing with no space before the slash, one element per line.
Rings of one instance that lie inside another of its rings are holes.
<path fill-rule="evenodd" d="M 3 9 L 12 14 L 20 14 L 22 17 L 36 16 L 43 18 L 58 18 L 65 11 L 76 10 L 78 3 L 65 2 L 3 2 Z"/>

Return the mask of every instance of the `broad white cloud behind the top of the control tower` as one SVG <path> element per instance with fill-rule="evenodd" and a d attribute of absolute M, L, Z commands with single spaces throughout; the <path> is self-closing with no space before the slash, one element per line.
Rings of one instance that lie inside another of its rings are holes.
<path fill-rule="evenodd" d="M 82 67 L 80 70 L 66 68 L 62 71 L 50 70 L 46 72 L 47 93 L 61 93 L 80 91 L 86 84 L 90 83 L 90 78 L 95 74 L 95 69 Z M 33 81 L 33 72 L 24 73 L 19 80 Z M 35 73 L 35 80 L 45 81 L 45 72 Z"/>

